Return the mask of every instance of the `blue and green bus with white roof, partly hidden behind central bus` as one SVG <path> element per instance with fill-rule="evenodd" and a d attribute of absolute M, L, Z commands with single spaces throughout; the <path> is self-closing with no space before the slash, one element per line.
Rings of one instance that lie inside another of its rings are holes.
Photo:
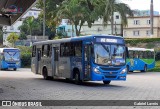
<path fill-rule="evenodd" d="M 148 69 L 155 67 L 155 52 L 154 49 L 146 48 L 128 48 L 129 58 L 127 58 L 127 71 L 146 72 Z"/>

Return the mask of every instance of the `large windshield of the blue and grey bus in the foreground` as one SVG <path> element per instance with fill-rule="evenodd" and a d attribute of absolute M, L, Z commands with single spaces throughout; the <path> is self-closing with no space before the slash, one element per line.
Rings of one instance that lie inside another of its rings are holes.
<path fill-rule="evenodd" d="M 100 65 L 124 65 L 125 46 L 94 44 L 94 62 Z"/>

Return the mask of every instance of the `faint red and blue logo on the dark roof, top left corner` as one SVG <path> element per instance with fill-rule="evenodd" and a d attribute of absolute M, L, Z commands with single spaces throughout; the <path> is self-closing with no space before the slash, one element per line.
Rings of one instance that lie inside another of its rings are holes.
<path fill-rule="evenodd" d="M 18 8 L 15 5 L 10 5 L 8 8 L 2 8 L 1 12 L 4 14 L 18 14 L 22 13 L 22 8 Z"/>

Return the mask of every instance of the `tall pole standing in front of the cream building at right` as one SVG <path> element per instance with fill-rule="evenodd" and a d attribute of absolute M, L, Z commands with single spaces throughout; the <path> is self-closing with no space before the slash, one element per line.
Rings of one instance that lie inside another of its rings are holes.
<path fill-rule="evenodd" d="M 150 37 L 152 38 L 153 37 L 153 0 L 151 0 L 151 5 L 150 5 Z"/>

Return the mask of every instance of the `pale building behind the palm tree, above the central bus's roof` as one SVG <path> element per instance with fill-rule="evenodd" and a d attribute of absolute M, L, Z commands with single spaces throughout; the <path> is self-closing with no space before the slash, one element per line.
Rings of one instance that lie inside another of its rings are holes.
<path fill-rule="evenodd" d="M 122 35 L 123 28 L 121 24 L 121 17 L 118 12 L 114 13 L 114 35 Z M 92 27 L 89 28 L 87 22 L 82 26 L 81 34 L 90 35 L 90 34 L 111 34 L 111 24 L 110 22 L 106 27 L 103 26 L 103 19 L 98 19 L 92 24 Z"/>

